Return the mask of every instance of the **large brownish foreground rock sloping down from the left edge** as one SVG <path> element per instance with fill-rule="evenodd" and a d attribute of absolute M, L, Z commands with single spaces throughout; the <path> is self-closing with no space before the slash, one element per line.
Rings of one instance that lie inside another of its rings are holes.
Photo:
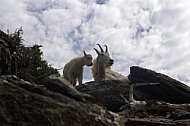
<path fill-rule="evenodd" d="M 124 126 L 124 122 L 96 104 L 9 75 L 0 76 L 0 125 Z"/>

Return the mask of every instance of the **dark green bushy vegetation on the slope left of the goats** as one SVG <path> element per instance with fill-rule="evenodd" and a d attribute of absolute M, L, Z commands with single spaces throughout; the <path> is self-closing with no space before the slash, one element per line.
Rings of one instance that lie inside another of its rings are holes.
<path fill-rule="evenodd" d="M 12 74 L 28 81 L 59 74 L 58 70 L 42 59 L 42 45 L 27 47 L 23 44 L 22 27 L 15 33 L 0 31 L 0 75 Z"/>

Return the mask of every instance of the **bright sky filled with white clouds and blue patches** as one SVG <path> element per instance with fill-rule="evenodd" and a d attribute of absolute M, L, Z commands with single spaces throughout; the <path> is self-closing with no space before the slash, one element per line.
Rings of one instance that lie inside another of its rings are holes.
<path fill-rule="evenodd" d="M 190 85 L 188 0 L 1 0 L 0 29 L 23 27 L 24 44 L 43 45 L 43 58 L 61 68 L 83 50 L 96 57 L 108 45 L 112 69 L 127 76 L 138 65 Z M 84 81 L 92 80 L 90 67 Z M 60 71 L 62 74 L 62 71 Z"/>

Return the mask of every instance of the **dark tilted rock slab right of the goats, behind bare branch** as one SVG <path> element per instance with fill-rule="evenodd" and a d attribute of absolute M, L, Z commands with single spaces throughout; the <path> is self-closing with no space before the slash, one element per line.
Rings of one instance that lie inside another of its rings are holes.
<path fill-rule="evenodd" d="M 190 87 L 171 77 L 138 66 L 130 67 L 129 80 L 131 84 L 142 82 L 159 82 L 156 86 L 141 86 L 137 91 L 149 94 L 149 98 L 173 104 L 190 103 Z M 142 100 L 142 99 L 139 99 Z"/>

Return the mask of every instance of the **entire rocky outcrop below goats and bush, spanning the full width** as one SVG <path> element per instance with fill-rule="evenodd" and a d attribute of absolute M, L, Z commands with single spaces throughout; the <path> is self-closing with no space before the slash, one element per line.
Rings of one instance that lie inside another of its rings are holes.
<path fill-rule="evenodd" d="M 45 77 L 38 84 L 0 76 L 0 125 L 190 125 L 188 86 L 149 69 L 130 70 L 130 83 L 92 81 L 77 87 L 60 76 Z M 132 113 L 126 104 L 131 85 L 152 82 L 160 84 L 134 88 L 134 99 L 145 100 L 148 109 L 137 105 L 140 111 Z"/>

